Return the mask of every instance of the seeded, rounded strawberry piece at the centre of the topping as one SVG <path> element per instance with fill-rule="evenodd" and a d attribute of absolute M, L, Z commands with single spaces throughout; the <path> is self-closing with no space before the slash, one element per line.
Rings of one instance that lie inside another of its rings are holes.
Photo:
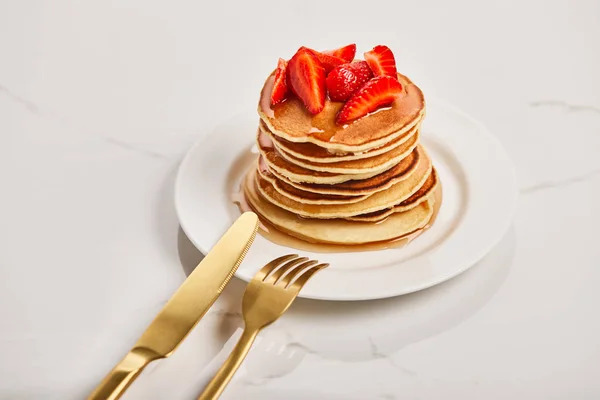
<path fill-rule="evenodd" d="M 327 75 L 327 90 L 333 101 L 346 101 L 373 77 L 365 61 L 356 61 L 335 67 Z"/>

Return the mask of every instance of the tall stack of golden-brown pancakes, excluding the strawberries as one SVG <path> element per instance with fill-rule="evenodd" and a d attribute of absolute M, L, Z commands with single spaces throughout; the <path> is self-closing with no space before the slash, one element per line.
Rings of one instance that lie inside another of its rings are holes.
<path fill-rule="evenodd" d="M 273 76 L 258 107 L 260 157 L 243 182 L 252 209 L 278 230 L 313 243 L 357 245 L 415 235 L 432 222 L 439 182 L 419 144 L 421 90 L 398 75 L 389 107 L 335 124 L 342 103 L 310 115 L 289 98 L 270 105 Z"/>

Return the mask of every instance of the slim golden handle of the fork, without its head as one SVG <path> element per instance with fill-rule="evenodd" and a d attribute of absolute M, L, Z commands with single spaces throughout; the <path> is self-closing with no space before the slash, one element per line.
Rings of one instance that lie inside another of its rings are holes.
<path fill-rule="evenodd" d="M 217 374 L 204 388 L 204 391 L 198 397 L 198 400 L 214 400 L 221 396 L 223 390 L 225 390 L 225 387 L 242 364 L 242 361 L 246 358 L 259 331 L 260 329 L 248 329 L 247 326 L 244 328 L 240 340 L 238 340 L 231 351 L 231 354 L 227 357 L 227 360 L 225 360 Z"/>

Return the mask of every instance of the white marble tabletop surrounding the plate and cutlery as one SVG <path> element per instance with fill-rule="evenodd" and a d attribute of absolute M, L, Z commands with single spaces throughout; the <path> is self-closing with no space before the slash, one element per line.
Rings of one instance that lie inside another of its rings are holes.
<path fill-rule="evenodd" d="M 500 138 L 513 228 L 436 288 L 298 301 L 223 398 L 600 398 L 600 3 L 323 3 L 0 1 L 1 399 L 91 391 L 200 259 L 172 203 L 190 144 L 278 57 L 353 41 Z M 242 291 L 124 398 L 195 398 Z"/>

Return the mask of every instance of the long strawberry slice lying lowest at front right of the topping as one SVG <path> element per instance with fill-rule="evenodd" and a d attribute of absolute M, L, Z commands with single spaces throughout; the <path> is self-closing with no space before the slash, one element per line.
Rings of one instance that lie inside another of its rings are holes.
<path fill-rule="evenodd" d="M 344 124 L 363 117 L 383 105 L 390 104 L 400 93 L 402 93 L 402 85 L 396 78 L 377 76 L 365 83 L 344 104 L 337 115 L 336 122 Z"/>

